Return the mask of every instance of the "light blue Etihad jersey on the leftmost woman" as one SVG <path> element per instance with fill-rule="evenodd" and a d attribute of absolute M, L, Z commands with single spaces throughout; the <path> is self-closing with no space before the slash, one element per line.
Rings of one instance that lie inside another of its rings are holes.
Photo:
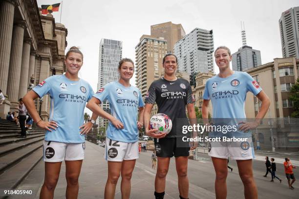
<path fill-rule="evenodd" d="M 66 143 L 85 142 L 80 135 L 79 127 L 84 124 L 84 108 L 86 102 L 94 94 L 91 86 L 85 80 L 71 81 L 65 75 L 56 75 L 43 80 L 32 90 L 40 97 L 50 96 L 50 117 L 58 123 L 57 130 L 47 131 L 46 141 Z M 44 102 L 45 103 L 45 102 Z"/>

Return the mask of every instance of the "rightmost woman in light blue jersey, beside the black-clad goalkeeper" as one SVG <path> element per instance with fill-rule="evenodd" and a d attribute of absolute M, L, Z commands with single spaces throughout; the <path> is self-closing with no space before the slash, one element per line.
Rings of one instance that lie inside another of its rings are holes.
<path fill-rule="evenodd" d="M 226 46 L 219 46 L 215 50 L 215 62 L 219 67 L 219 74 L 207 80 L 202 104 L 202 118 L 204 124 L 208 121 L 208 105 L 210 100 L 213 105 L 213 119 L 223 122 L 232 122 L 238 119 L 238 130 L 231 135 L 237 138 L 246 138 L 246 141 L 224 141 L 224 131 L 216 134 L 222 139 L 218 142 L 209 142 L 209 156 L 212 157 L 216 173 L 215 194 L 216 199 L 226 199 L 227 187 L 226 177 L 228 174 L 228 158 L 235 159 L 238 166 L 239 176 L 244 185 L 244 195 L 247 199 L 257 199 L 257 188 L 253 178 L 252 159 L 254 158 L 254 148 L 249 129 L 256 128 L 264 118 L 270 100 L 262 91 L 256 80 L 249 74 L 230 69 L 232 60 L 231 51 Z M 261 101 L 261 107 L 254 122 L 246 122 L 244 103 L 246 93 L 252 92 Z M 227 125 L 227 123 L 225 123 Z M 229 123 L 231 124 L 231 123 Z M 247 133 L 246 133 L 247 132 Z M 210 134 L 213 135 L 214 132 Z M 229 133 L 228 133 L 229 134 Z"/>

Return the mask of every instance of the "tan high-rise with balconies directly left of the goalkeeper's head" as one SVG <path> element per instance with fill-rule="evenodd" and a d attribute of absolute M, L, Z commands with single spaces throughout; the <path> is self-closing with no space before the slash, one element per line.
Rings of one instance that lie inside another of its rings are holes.
<path fill-rule="evenodd" d="M 160 79 L 163 74 L 163 57 L 167 53 L 166 40 L 143 35 L 135 47 L 136 52 L 136 86 L 140 89 L 142 98 L 145 99 L 150 84 Z M 154 105 L 152 113 L 157 112 Z"/>

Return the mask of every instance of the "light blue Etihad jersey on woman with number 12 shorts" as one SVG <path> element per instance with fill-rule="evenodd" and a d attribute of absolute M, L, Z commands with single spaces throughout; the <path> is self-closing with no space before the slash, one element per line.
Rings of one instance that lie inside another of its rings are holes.
<path fill-rule="evenodd" d="M 138 108 L 144 106 L 138 88 L 135 86 L 125 87 L 118 81 L 114 81 L 107 83 L 93 97 L 99 99 L 101 103 L 107 100 L 111 115 L 124 124 L 124 129 L 117 129 L 109 121 L 106 132 L 107 138 L 122 142 L 138 140 Z"/>

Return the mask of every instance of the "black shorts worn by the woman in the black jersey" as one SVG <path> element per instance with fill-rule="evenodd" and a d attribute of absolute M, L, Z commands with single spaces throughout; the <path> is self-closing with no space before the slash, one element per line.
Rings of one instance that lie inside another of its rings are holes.
<path fill-rule="evenodd" d="M 189 142 L 184 142 L 182 138 L 162 138 L 154 139 L 156 156 L 161 158 L 171 158 L 189 156 Z"/>

